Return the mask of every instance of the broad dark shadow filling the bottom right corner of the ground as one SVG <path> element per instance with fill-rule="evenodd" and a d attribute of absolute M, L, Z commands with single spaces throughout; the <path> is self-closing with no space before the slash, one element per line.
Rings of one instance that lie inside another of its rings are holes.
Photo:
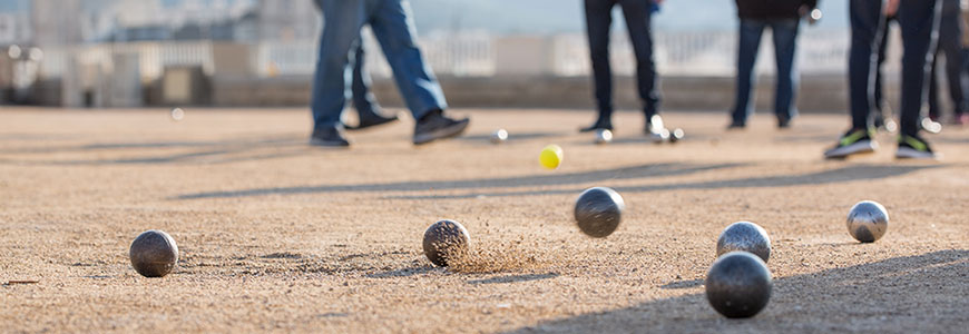
<path fill-rule="evenodd" d="M 969 250 L 939 250 L 775 277 L 767 307 L 747 320 L 726 320 L 694 293 L 508 333 L 965 333 L 967 273 Z"/>

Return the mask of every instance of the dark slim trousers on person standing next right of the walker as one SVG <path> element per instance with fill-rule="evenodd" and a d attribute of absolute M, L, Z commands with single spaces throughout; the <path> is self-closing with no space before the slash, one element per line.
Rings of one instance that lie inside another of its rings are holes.
<path fill-rule="evenodd" d="M 609 30 L 613 26 L 613 8 L 623 7 L 629 40 L 636 53 L 636 81 L 643 112 L 646 119 L 659 108 L 659 91 L 656 88 L 656 65 L 653 62 L 653 31 L 650 13 L 653 0 L 585 0 L 586 29 L 589 52 L 593 59 L 593 80 L 596 85 L 596 104 L 599 119 L 613 115 L 613 69 L 609 65 Z"/>

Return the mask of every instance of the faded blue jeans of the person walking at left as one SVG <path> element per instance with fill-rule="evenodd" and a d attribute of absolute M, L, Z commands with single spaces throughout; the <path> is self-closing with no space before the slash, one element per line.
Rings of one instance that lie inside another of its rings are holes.
<path fill-rule="evenodd" d="M 401 96 L 414 119 L 447 108 L 444 94 L 417 46 L 417 30 L 407 0 L 316 0 L 323 9 L 323 36 L 313 79 L 311 108 L 315 127 L 339 127 L 355 60 L 351 49 L 360 29 L 370 24 L 393 70 Z"/>

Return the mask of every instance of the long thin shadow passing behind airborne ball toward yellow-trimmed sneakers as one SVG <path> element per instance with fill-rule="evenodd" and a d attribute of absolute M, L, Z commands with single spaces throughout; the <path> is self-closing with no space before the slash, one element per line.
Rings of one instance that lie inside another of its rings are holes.
<path fill-rule="evenodd" d="M 871 180 L 895 177 L 906 175 L 912 171 L 936 168 L 938 165 L 858 165 L 838 169 L 810 173 L 803 175 L 784 175 L 784 176 L 767 176 L 767 177 L 746 177 L 726 180 L 712 180 L 701 183 L 677 183 L 648 186 L 620 186 L 615 187 L 619 193 L 649 193 L 663 190 L 678 189 L 721 189 L 721 188 L 751 188 L 751 187 L 790 187 L 802 185 L 820 185 L 835 184 L 845 181 Z M 581 189 L 551 189 L 551 190 L 528 190 L 528 191 L 507 191 L 507 193 L 473 193 L 460 195 L 427 195 L 427 196 L 388 196 L 388 198 L 397 199 L 458 199 L 458 198 L 476 198 L 476 197 L 505 197 L 505 196 L 534 196 L 534 195 L 552 195 L 552 194 L 576 194 Z"/>

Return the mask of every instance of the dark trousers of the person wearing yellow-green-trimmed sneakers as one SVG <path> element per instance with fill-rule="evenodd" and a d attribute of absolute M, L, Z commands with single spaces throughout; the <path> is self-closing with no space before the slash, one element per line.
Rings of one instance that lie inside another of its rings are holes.
<path fill-rule="evenodd" d="M 927 80 L 938 29 L 941 0 L 901 0 L 902 31 L 901 132 L 917 136 L 928 95 Z M 871 127 L 879 42 L 884 33 L 882 0 L 850 0 L 851 51 L 848 62 L 852 128 Z"/>

